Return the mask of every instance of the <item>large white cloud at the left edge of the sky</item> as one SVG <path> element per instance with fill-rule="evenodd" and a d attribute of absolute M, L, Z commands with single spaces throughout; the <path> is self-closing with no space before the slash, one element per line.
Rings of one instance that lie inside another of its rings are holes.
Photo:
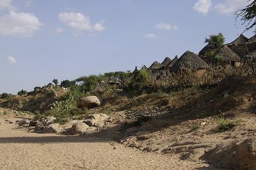
<path fill-rule="evenodd" d="M 43 23 L 30 13 L 10 12 L 0 16 L 0 25 L 0 35 L 32 36 Z"/>

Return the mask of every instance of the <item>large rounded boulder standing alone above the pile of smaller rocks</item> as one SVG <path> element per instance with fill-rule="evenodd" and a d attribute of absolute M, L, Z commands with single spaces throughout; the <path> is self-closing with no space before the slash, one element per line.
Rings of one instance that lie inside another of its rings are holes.
<path fill-rule="evenodd" d="M 77 102 L 77 107 L 80 109 L 83 109 L 83 108 L 92 109 L 100 105 L 101 105 L 101 101 L 99 101 L 99 98 L 96 96 L 84 97 Z"/>

